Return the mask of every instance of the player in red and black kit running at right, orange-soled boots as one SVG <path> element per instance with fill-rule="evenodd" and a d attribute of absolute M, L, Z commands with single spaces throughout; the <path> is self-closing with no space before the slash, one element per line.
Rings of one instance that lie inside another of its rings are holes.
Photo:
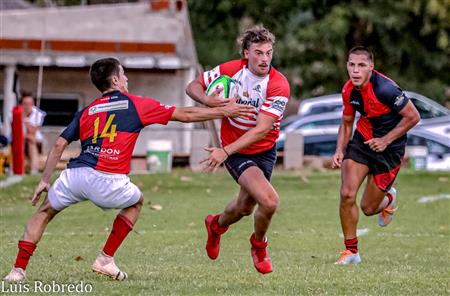
<path fill-rule="evenodd" d="M 372 52 L 358 46 L 349 51 L 349 80 L 342 89 L 343 117 L 333 166 L 341 168 L 340 208 L 346 249 L 336 264 L 361 262 L 358 252 L 356 195 L 367 177 L 361 209 L 378 214 L 378 224 L 388 225 L 396 210 L 392 187 L 405 153 L 406 132 L 420 120 L 419 113 L 398 85 L 374 70 Z M 352 137 L 355 112 L 360 113 Z"/>

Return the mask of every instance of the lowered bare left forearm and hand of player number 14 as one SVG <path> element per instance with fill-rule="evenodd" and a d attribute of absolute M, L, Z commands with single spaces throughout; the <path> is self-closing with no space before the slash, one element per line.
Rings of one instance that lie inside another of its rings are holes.
<path fill-rule="evenodd" d="M 69 143 L 63 137 L 59 137 L 56 140 L 55 145 L 52 150 L 50 150 L 47 161 L 45 162 L 44 172 L 42 173 L 41 181 L 36 186 L 33 198 L 31 199 L 31 204 L 34 206 L 39 201 L 42 192 L 48 191 L 50 188 L 50 178 L 52 177 L 53 171 L 55 170 L 58 161 L 61 159 L 61 155 L 66 149 Z"/>

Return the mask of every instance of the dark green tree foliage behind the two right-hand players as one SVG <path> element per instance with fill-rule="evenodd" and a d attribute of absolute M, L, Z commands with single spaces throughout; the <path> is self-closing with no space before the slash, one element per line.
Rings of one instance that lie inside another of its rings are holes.
<path fill-rule="evenodd" d="M 448 0 L 189 1 L 200 63 L 239 58 L 236 37 L 263 23 L 277 37 L 273 64 L 296 98 L 340 91 L 347 51 L 370 47 L 376 68 L 440 101 L 450 81 Z"/>

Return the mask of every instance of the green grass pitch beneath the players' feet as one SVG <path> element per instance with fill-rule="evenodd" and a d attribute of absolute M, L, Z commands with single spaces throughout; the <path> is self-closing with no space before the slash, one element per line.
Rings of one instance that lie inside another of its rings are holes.
<path fill-rule="evenodd" d="M 254 269 L 244 218 L 222 238 L 219 258 L 204 252 L 203 219 L 219 212 L 237 192 L 225 172 L 176 170 L 135 175 L 146 197 L 141 218 L 116 262 L 130 279 L 116 282 L 90 271 L 115 211 L 89 202 L 65 210 L 47 228 L 28 268 L 28 281 L 93 286 L 92 295 L 449 295 L 450 200 L 418 203 L 422 196 L 450 193 L 449 175 L 403 170 L 397 180 L 399 210 L 387 228 L 360 216 L 363 262 L 335 266 L 342 250 L 338 217 L 340 176 L 333 172 L 278 172 L 281 204 L 269 232 L 272 274 Z M 14 262 L 17 240 L 34 212 L 28 197 L 38 179 L 27 177 L 0 191 L 0 273 Z M 161 211 L 150 208 L 162 205 Z M 36 295 L 36 294 L 33 294 Z"/>

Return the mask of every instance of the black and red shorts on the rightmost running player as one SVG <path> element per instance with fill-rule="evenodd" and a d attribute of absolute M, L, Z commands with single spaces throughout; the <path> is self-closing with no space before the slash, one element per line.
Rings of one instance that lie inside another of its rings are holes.
<path fill-rule="evenodd" d="M 361 134 L 355 132 L 347 145 L 344 159 L 351 159 L 369 167 L 369 174 L 373 175 L 377 187 L 386 192 L 397 177 L 404 154 L 404 146 L 395 150 L 386 149 L 381 153 L 375 152 L 364 144 Z"/>

